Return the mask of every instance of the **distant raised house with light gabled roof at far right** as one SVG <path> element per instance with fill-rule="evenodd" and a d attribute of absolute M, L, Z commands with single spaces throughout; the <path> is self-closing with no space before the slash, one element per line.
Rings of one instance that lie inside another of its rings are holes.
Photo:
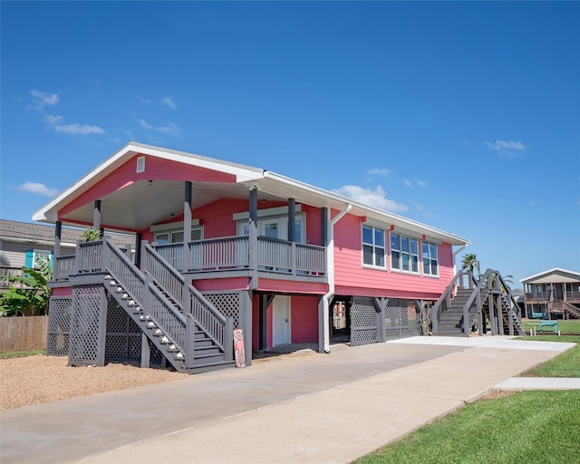
<path fill-rule="evenodd" d="M 580 273 L 555 267 L 520 281 L 527 317 L 580 318 Z"/>

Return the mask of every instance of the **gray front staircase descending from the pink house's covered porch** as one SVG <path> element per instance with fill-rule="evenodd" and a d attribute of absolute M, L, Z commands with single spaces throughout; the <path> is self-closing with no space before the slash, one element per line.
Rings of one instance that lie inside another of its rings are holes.
<path fill-rule="evenodd" d="M 105 288 L 176 371 L 198 373 L 235 366 L 231 318 L 219 314 L 203 295 L 186 285 L 183 276 L 152 248 L 146 250 L 148 256 L 157 260 L 163 275 L 180 279 L 180 295 L 176 295 L 177 287 L 164 285 L 167 278 L 154 278 L 111 242 L 106 245 L 111 259 Z"/>

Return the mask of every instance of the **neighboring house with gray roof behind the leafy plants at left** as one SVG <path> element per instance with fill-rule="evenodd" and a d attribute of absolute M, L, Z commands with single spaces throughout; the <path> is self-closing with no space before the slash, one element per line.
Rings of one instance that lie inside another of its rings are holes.
<path fill-rule="evenodd" d="M 82 229 L 63 227 L 61 255 L 74 255 L 76 242 L 82 240 Z M 131 243 L 131 237 L 114 235 L 118 245 Z M 47 257 L 53 264 L 54 226 L 0 219 L 0 292 L 11 285 L 7 275 L 22 275 L 22 268 L 36 267 L 37 260 Z"/>

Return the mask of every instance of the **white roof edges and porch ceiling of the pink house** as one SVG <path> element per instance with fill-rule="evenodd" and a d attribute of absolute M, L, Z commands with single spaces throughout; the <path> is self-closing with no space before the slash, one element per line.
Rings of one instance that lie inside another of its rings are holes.
<path fill-rule="evenodd" d="M 469 245 L 469 240 L 465 238 L 272 171 L 135 142 L 125 145 L 70 188 L 53 198 L 34 213 L 33 219 L 43 222 L 61 220 L 64 224 L 71 225 L 91 225 L 94 214 L 92 202 L 87 201 L 78 208 L 68 211 L 63 208 L 90 189 L 97 189 L 99 182 L 136 155 L 148 155 L 187 166 L 210 169 L 226 173 L 235 179 L 232 182 L 194 182 L 192 187 L 192 208 L 194 209 L 218 198 L 248 199 L 249 189 L 256 188 L 260 200 L 284 201 L 287 198 L 295 198 L 297 203 L 317 208 L 329 208 L 331 211 L 343 210 L 351 205 L 349 214 L 364 217 L 385 226 L 392 226 L 395 230 L 401 229 L 454 246 Z M 183 182 L 171 179 L 140 179 L 122 186 L 121 189 L 111 191 L 100 199 L 102 201 L 102 226 L 117 230 L 140 230 L 151 224 L 169 221 L 183 212 L 184 185 Z M 63 214 L 63 211 L 66 213 Z"/>

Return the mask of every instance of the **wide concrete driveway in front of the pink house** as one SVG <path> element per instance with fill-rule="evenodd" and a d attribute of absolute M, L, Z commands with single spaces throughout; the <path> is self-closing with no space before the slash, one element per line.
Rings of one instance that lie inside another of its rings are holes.
<path fill-rule="evenodd" d="M 341 463 L 574 346 L 414 337 L 0 414 L 3 464 Z"/>

